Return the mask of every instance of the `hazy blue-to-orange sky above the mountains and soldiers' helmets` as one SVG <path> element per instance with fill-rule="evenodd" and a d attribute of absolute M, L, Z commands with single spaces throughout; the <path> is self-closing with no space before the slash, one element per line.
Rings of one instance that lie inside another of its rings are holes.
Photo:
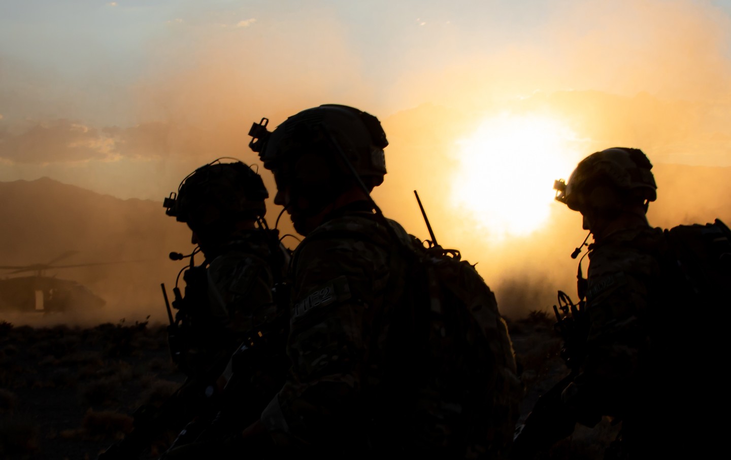
<path fill-rule="evenodd" d="M 251 121 L 329 102 L 447 150 L 539 114 L 574 143 L 564 175 L 610 145 L 729 166 L 730 19 L 731 1 L 0 0 L 0 180 L 159 199 L 212 158 L 255 162 Z"/>

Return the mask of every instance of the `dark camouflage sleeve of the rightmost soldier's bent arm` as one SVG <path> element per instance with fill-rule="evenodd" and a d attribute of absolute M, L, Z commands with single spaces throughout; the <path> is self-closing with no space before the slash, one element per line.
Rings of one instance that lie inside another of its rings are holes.
<path fill-rule="evenodd" d="M 648 254 L 630 248 L 601 248 L 592 256 L 586 357 L 562 399 L 580 420 L 598 421 L 600 415 L 623 415 L 634 396 L 640 353 L 648 342 L 643 318 L 659 265 Z"/>

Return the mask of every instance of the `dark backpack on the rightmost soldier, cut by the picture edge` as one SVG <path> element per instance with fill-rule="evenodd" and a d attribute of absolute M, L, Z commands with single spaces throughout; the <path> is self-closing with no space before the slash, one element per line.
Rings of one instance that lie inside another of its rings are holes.
<path fill-rule="evenodd" d="M 664 323 L 675 331 L 672 339 L 680 344 L 670 363 L 675 364 L 671 378 L 678 393 L 667 395 L 670 409 L 665 413 L 684 422 L 677 430 L 679 439 L 702 440 L 685 442 L 681 449 L 673 445 L 675 453 L 711 458 L 724 448 L 726 439 L 722 407 L 728 399 L 727 380 L 722 369 L 728 356 L 731 230 L 716 219 L 705 225 L 676 226 L 664 231 L 664 237 L 664 261 L 670 271 L 666 289 L 677 296 L 669 302 L 673 314 Z M 667 285 L 673 283 L 673 276 L 677 285 Z M 667 436 L 673 433 L 663 435 L 671 439 Z"/>

